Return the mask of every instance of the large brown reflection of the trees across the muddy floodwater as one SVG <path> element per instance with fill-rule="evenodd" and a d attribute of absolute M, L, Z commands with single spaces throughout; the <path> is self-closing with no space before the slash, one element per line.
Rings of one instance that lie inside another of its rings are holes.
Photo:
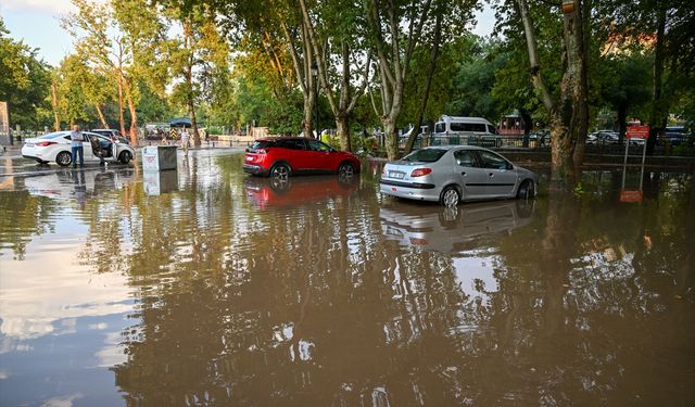
<path fill-rule="evenodd" d="M 481 302 L 458 285 L 451 255 L 382 239 L 378 216 L 356 204 L 379 204 L 370 186 L 255 211 L 235 165 L 212 176 L 191 163 L 181 192 L 138 188 L 139 216 L 109 229 L 131 240 L 124 262 L 138 290 L 141 323 L 113 368 L 128 404 L 654 404 L 654 390 L 687 377 L 687 357 L 668 373 L 636 355 L 658 347 L 654 327 L 671 349 L 693 339 L 661 320 L 673 293 L 692 301 L 679 291 L 692 271 L 671 258 L 671 282 L 659 274 L 669 253 L 693 247 L 692 220 L 673 220 L 693 207 L 692 187 L 658 207 L 539 202 L 535 228 L 485 240 L 497 244 L 498 288 Z M 646 355 L 673 358 L 665 352 Z M 652 368 L 661 378 L 644 386 Z"/>

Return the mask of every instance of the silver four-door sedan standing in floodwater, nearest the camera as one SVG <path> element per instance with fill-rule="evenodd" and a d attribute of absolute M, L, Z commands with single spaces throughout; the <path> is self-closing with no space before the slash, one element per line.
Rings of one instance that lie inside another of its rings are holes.
<path fill-rule="evenodd" d="M 460 201 L 534 198 L 536 174 L 502 155 L 473 145 L 440 145 L 417 150 L 383 166 L 382 194 L 444 206 Z"/>

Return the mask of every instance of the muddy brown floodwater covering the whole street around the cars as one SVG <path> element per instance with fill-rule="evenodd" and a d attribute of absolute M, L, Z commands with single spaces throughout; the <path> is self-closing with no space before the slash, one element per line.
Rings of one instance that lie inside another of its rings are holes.
<path fill-rule="evenodd" d="M 695 405 L 692 174 L 443 209 L 241 158 L 0 177 L 0 405 Z"/>

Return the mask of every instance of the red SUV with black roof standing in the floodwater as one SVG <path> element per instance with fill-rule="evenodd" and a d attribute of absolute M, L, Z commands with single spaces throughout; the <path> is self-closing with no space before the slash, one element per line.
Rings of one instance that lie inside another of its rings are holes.
<path fill-rule="evenodd" d="M 276 178 L 291 174 L 332 173 L 352 176 L 359 173 L 359 158 L 355 154 L 337 151 L 314 139 L 277 137 L 256 140 L 247 149 L 244 173 Z"/>

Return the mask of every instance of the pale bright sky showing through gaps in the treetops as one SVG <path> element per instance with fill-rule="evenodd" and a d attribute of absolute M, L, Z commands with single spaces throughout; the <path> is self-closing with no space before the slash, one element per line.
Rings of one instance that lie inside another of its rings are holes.
<path fill-rule="evenodd" d="M 0 0 L 0 16 L 10 36 L 37 48 L 39 58 L 53 66 L 73 50 L 71 36 L 60 26 L 60 18 L 72 11 L 71 0 Z M 479 23 L 472 31 L 490 35 L 495 20 L 488 4 L 476 18 Z"/>

